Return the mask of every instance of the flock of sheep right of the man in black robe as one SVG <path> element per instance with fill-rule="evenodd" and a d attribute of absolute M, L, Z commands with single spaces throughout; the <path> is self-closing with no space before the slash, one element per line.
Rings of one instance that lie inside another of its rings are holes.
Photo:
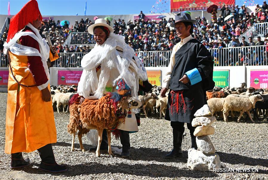
<path fill-rule="evenodd" d="M 268 89 L 246 88 L 246 83 L 242 83 L 238 88 L 219 88 L 207 91 L 207 104 L 209 105 L 213 115 L 219 115 L 228 121 L 228 115 L 234 117 L 234 112 L 240 112 L 237 122 L 240 121 L 244 112 L 247 112 L 248 117 L 252 122 L 255 121 L 251 117 L 254 114 L 254 119 L 259 120 L 262 115 L 267 118 L 268 115 Z"/>

